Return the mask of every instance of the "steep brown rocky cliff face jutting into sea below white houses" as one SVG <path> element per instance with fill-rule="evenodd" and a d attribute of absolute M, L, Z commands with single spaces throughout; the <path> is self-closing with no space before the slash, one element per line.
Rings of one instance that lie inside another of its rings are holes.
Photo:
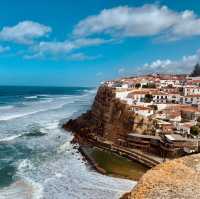
<path fill-rule="evenodd" d="M 115 97 L 112 88 L 101 86 L 91 110 L 75 120 L 70 120 L 64 127 L 83 136 L 96 135 L 114 142 L 130 132 L 153 134 L 153 122 L 129 109 L 126 103 Z"/>

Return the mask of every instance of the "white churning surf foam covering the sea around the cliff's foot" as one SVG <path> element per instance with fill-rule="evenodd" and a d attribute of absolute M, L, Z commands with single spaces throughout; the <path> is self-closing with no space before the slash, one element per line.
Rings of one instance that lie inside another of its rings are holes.
<path fill-rule="evenodd" d="M 70 144 L 72 135 L 58 128 L 60 119 L 70 117 L 74 112 L 80 114 L 79 107 L 86 104 L 91 96 L 91 94 L 85 94 L 65 99 L 55 97 L 52 103 L 33 102 L 30 103 L 31 108 L 20 108 L 26 114 L 30 114 L 31 111 L 40 112 L 42 108 L 47 111 L 44 114 L 31 115 L 30 118 L 13 120 L 10 124 L 16 123 L 18 128 L 19 124 L 39 123 L 41 132 L 48 131 L 46 136 L 39 139 L 28 137 L 22 142 L 31 149 L 38 147 L 36 149 L 39 150 L 41 147 L 44 157 L 47 155 L 48 158 L 40 159 L 39 156 L 38 158 L 34 156 L 31 160 L 24 159 L 19 162 L 17 177 L 20 178 L 21 182 L 13 183 L 3 191 L 0 189 L 0 199 L 117 199 L 122 193 L 132 189 L 136 184 L 133 181 L 112 178 L 91 171 L 83 163 L 81 154 Z M 78 102 L 71 104 L 74 100 L 78 100 Z M 63 105 L 64 108 L 56 109 Z M 52 109 L 56 111 L 48 111 Z M 16 110 L 9 114 L 21 113 Z M 0 118 L 3 116 L 9 115 L 0 114 Z M 7 123 L 5 124 L 7 125 Z M 24 130 L 21 132 L 23 132 L 22 135 L 25 134 Z M 58 136 L 60 139 L 57 139 Z M 63 139 L 66 139 L 64 143 Z M 26 143 L 24 143 L 25 141 Z M 53 154 L 51 153 L 52 149 Z M 43 156 L 43 154 L 41 155 Z"/>

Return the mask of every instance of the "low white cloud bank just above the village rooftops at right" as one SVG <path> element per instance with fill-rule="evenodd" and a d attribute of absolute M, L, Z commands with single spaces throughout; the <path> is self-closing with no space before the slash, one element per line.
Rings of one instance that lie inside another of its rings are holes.
<path fill-rule="evenodd" d="M 152 63 L 146 63 L 137 69 L 137 73 L 191 73 L 197 62 L 200 62 L 200 50 L 193 55 L 183 56 L 179 60 L 158 59 Z"/>

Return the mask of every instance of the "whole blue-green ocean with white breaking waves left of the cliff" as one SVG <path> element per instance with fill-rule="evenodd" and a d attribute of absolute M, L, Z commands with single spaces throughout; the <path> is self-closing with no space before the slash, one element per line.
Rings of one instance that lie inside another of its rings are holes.
<path fill-rule="evenodd" d="M 0 87 L 0 199 L 117 199 L 135 182 L 83 161 L 63 122 L 88 110 L 96 89 Z"/>

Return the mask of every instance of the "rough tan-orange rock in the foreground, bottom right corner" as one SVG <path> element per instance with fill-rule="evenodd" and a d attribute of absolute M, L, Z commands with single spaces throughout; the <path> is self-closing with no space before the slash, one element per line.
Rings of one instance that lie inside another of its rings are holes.
<path fill-rule="evenodd" d="M 168 161 L 149 170 L 124 199 L 200 198 L 200 155 Z"/>

